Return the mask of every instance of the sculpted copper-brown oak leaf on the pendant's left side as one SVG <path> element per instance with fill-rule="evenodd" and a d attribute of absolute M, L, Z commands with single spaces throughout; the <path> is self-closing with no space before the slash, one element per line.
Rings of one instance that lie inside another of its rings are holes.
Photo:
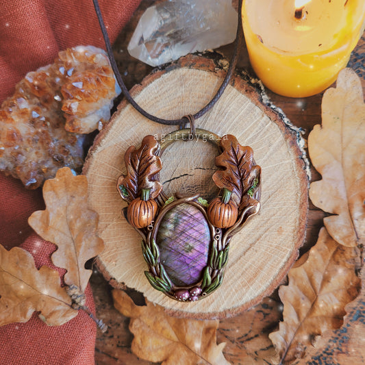
<path fill-rule="evenodd" d="M 139 149 L 131 146 L 124 155 L 127 175 L 118 178 L 118 191 L 126 201 L 136 199 L 142 194 L 142 189 L 149 189 L 149 198 L 155 199 L 162 190 L 160 181 L 155 181 L 155 175 L 162 168 L 158 157 L 160 144 L 155 137 L 145 136 Z"/>

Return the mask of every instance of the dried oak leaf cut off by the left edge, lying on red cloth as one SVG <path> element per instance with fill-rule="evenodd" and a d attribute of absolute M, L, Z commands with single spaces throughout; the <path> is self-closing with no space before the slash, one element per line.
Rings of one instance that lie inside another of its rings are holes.
<path fill-rule="evenodd" d="M 34 311 L 47 325 L 63 325 L 77 315 L 57 271 L 38 270 L 29 252 L 0 245 L 0 325 L 27 322 Z"/>

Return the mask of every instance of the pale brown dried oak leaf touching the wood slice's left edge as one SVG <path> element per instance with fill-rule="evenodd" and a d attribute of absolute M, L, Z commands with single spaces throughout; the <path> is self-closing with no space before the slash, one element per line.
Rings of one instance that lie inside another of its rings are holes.
<path fill-rule="evenodd" d="M 54 179 L 43 186 L 46 210 L 29 217 L 29 225 L 58 250 L 51 260 L 65 268 L 64 282 L 84 292 L 92 270 L 86 261 L 103 251 L 103 240 L 97 236 L 98 214 L 88 209 L 86 176 L 74 176 L 69 168 L 61 168 Z"/>

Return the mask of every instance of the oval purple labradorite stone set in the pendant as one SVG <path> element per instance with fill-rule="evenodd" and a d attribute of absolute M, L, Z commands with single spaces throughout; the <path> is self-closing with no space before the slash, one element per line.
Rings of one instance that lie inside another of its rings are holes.
<path fill-rule="evenodd" d="M 201 279 L 207 266 L 210 230 L 203 213 L 181 203 L 162 218 L 157 234 L 160 262 L 176 286 L 190 286 Z"/>

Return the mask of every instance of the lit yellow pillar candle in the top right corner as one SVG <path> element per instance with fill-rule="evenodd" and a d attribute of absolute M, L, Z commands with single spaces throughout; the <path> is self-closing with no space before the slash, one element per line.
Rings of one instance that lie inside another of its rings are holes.
<path fill-rule="evenodd" d="M 365 0 L 243 0 L 251 65 L 286 97 L 325 90 L 364 32 Z"/>

